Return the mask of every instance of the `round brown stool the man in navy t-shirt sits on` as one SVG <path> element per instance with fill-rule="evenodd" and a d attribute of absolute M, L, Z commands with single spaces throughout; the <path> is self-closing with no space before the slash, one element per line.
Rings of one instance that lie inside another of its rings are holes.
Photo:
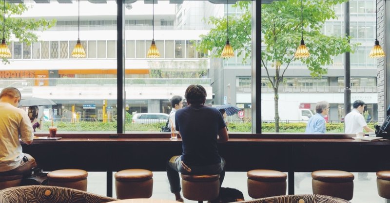
<path fill-rule="evenodd" d="M 186 199 L 198 201 L 215 200 L 219 195 L 219 174 L 216 175 L 185 175 L 181 174 L 183 196 Z"/>

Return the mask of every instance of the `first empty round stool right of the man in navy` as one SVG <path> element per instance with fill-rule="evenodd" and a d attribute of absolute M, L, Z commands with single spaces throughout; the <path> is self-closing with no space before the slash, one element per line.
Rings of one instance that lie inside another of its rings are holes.
<path fill-rule="evenodd" d="M 277 170 L 255 169 L 248 171 L 247 176 L 248 194 L 254 199 L 286 195 L 286 173 Z"/>

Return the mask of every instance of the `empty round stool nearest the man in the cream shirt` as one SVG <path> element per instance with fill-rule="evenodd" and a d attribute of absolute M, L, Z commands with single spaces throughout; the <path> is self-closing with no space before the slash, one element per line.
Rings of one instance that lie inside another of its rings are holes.
<path fill-rule="evenodd" d="M 81 169 L 54 170 L 47 174 L 49 186 L 68 187 L 87 191 L 88 173 Z"/>

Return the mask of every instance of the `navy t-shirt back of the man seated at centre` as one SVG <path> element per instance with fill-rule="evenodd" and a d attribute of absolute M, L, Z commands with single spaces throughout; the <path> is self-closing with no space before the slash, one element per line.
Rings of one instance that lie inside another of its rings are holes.
<path fill-rule="evenodd" d="M 190 105 L 176 111 L 176 130 L 183 140 L 182 160 L 194 166 L 220 163 L 218 131 L 226 127 L 216 108 Z"/>

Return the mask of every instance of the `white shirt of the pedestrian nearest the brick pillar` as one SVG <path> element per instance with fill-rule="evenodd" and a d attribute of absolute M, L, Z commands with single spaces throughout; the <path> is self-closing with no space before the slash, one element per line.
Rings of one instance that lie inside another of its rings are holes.
<path fill-rule="evenodd" d="M 352 109 L 352 111 L 345 116 L 344 123 L 346 134 L 363 132 L 363 127 L 367 126 L 363 115 L 356 109 Z"/>

